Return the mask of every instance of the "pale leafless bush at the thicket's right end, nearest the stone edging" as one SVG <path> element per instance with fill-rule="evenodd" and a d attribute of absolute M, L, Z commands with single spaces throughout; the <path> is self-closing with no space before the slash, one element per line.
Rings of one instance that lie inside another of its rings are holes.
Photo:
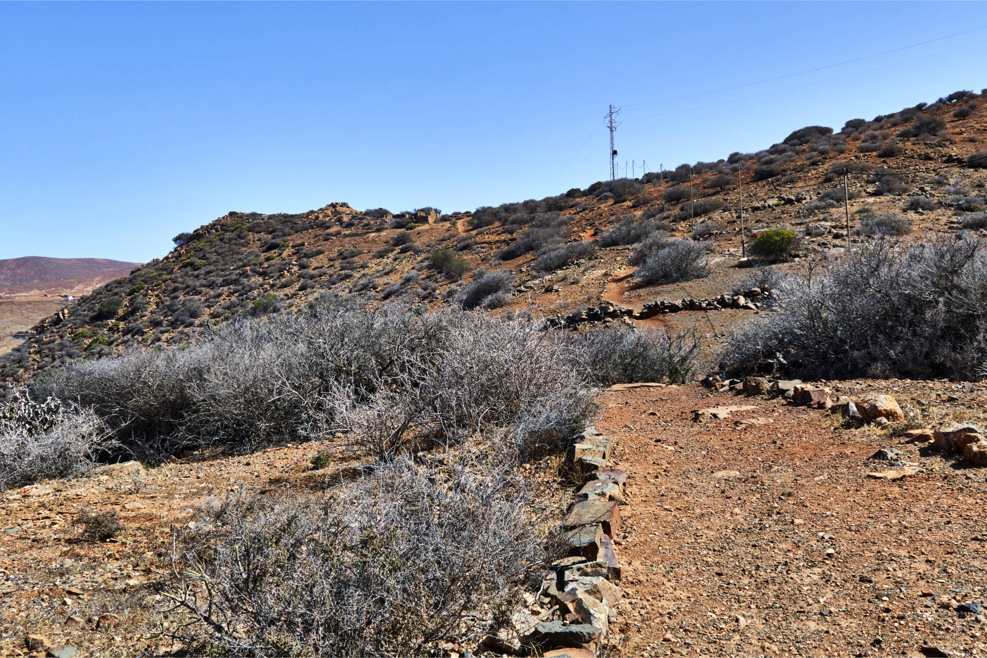
<path fill-rule="evenodd" d="M 563 449 L 585 426 L 594 407 L 571 346 L 524 318 L 443 314 L 437 322 L 448 329 L 443 340 L 390 378 L 392 387 L 378 383 L 345 409 L 335 402 L 361 448 L 387 457 L 503 431 L 526 459 Z"/>

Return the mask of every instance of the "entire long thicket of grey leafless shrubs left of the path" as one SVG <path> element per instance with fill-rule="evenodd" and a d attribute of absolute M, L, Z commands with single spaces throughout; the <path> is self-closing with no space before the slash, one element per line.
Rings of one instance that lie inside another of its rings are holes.
<path fill-rule="evenodd" d="M 528 319 L 330 303 L 231 323 L 184 350 L 73 366 L 38 392 L 91 406 L 143 459 L 189 445 L 249 452 L 341 426 L 387 455 L 531 425 L 545 408 L 574 430 L 591 405 L 558 365 L 564 349 Z"/>

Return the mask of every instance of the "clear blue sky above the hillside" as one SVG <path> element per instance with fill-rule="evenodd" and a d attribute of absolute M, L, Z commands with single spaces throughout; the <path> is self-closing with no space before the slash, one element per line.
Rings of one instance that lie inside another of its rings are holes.
<path fill-rule="evenodd" d="M 7 2 L 0 258 L 541 198 L 608 176 L 611 103 L 640 176 L 984 87 L 987 3 Z"/>

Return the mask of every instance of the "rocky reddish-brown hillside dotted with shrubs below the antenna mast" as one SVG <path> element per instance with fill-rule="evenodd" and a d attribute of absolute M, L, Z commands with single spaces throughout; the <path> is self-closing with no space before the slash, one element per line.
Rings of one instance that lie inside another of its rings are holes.
<path fill-rule="evenodd" d="M 41 321 L 3 357 L 0 378 L 21 381 L 131 344 L 188 342 L 196 330 L 239 316 L 350 294 L 544 316 L 603 301 L 641 311 L 669 298 L 684 300 L 686 312 L 638 322 L 695 327 L 701 313 L 715 336 L 752 311 L 708 314 L 710 303 L 689 300 L 757 287 L 749 268 L 756 261 L 741 250 L 764 229 L 800 239 L 787 257 L 756 262 L 780 267 L 839 257 L 881 233 L 983 232 L 985 139 L 987 98 L 956 92 L 842 128 L 803 127 L 757 153 L 471 212 L 359 211 L 346 203 L 297 214 L 230 212 Z M 682 253 L 708 255 L 707 268 L 672 277 L 635 270 L 669 240 L 681 241 Z"/>

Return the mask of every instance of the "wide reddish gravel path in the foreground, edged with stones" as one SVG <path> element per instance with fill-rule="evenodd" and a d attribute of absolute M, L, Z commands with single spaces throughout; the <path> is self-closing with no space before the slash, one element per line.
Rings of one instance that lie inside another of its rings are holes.
<path fill-rule="evenodd" d="M 919 404 L 958 387 L 871 388 Z M 959 410 L 982 410 L 984 390 L 960 394 Z M 824 411 L 695 385 L 599 402 L 598 427 L 630 475 L 623 655 L 918 656 L 926 643 L 987 653 L 983 615 L 930 598 L 987 601 L 987 470 L 899 445 L 887 430 L 834 428 Z M 726 404 L 758 408 L 692 420 L 692 409 Z M 763 424 L 738 424 L 751 419 Z M 889 468 L 868 458 L 890 446 L 927 475 L 868 478 Z"/>

